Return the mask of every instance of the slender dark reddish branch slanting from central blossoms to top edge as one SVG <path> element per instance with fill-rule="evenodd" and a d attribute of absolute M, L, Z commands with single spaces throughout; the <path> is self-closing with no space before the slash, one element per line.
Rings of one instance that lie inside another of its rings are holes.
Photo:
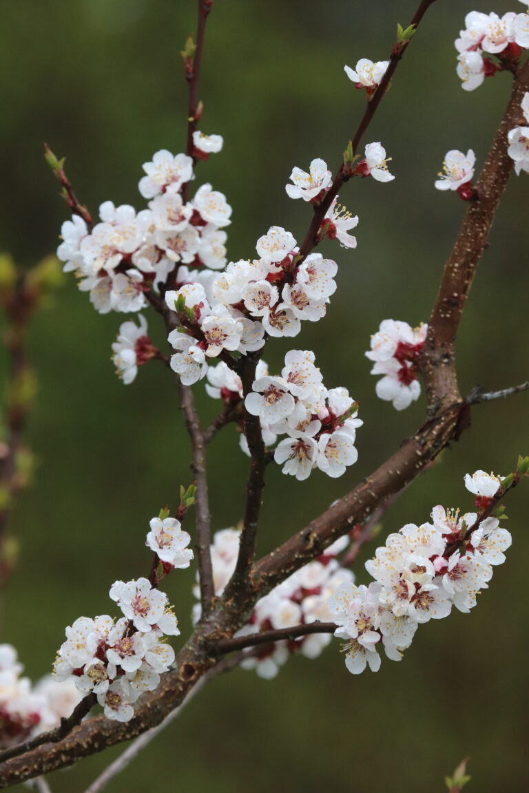
<path fill-rule="evenodd" d="M 419 25 L 420 21 L 424 17 L 424 14 L 427 12 L 428 8 L 433 5 L 435 0 L 422 0 L 420 2 L 419 7 L 416 10 L 416 13 L 413 15 L 412 18 L 412 25 L 415 25 L 415 29 Z M 384 77 L 381 79 L 380 85 L 378 89 L 375 91 L 373 96 L 371 97 L 370 102 L 367 103 L 366 111 L 362 116 L 360 123 L 356 129 L 355 135 L 352 139 L 352 151 L 353 154 L 356 155 L 358 153 L 358 147 L 362 141 L 363 136 L 367 132 L 367 129 L 370 126 L 371 121 L 373 121 L 374 114 L 377 112 L 378 105 L 380 105 L 382 99 L 385 96 L 386 91 L 389 88 L 389 83 L 391 82 L 393 75 L 395 74 L 395 70 L 397 69 L 398 63 L 401 60 L 404 52 L 408 48 L 410 40 L 403 41 L 401 43 L 397 43 L 394 45 L 393 50 L 391 52 L 391 56 L 389 57 L 389 66 L 385 71 Z M 332 186 L 329 188 L 328 192 L 325 193 L 324 198 L 320 202 L 314 206 L 314 214 L 312 216 L 312 220 L 309 225 L 309 230 L 305 234 L 305 238 L 301 243 L 300 253 L 303 257 L 309 255 L 310 251 L 312 251 L 313 247 L 316 247 L 318 244 L 318 232 L 320 231 L 320 225 L 322 224 L 325 213 L 329 209 L 332 204 L 332 201 L 338 195 L 339 191 L 342 189 L 343 185 L 349 181 L 351 178 L 351 170 L 346 167 L 343 163 L 341 163 L 335 178 L 332 182 Z"/>

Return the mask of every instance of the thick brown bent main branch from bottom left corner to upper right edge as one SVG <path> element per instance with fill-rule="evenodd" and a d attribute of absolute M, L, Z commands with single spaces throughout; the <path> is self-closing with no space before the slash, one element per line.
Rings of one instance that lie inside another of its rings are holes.
<path fill-rule="evenodd" d="M 320 555 L 325 547 L 350 531 L 351 526 L 366 519 L 383 500 L 399 492 L 440 450 L 451 440 L 457 439 L 467 426 L 470 407 L 459 397 L 454 369 L 454 337 L 496 206 L 511 170 L 506 153 L 507 131 L 516 124 L 519 103 L 528 86 L 529 65 L 525 65 L 518 70 L 511 102 L 485 161 L 477 184 L 479 197 L 469 206 L 454 251 L 443 272 L 424 352 L 423 368 L 430 406 L 427 422 L 366 481 L 278 550 L 254 565 L 251 577 L 247 579 L 252 581 L 251 597 L 254 602 Z M 124 725 L 110 722 L 104 717 L 90 719 L 75 727 L 56 746 L 40 746 L 22 757 L 3 763 L 0 767 L 0 786 L 9 787 L 30 777 L 71 765 L 81 757 L 128 740 L 159 724 L 182 702 L 197 680 L 215 665 L 216 659 L 205 648 L 210 647 L 213 641 L 217 641 L 217 644 L 224 641 L 242 626 L 243 611 L 233 604 L 232 609 L 228 610 L 226 605 L 226 600 L 222 600 L 210 615 L 209 623 L 198 626 L 197 632 L 179 654 L 178 668 L 162 676 L 159 688 L 144 698 L 144 703 L 131 722 Z"/>

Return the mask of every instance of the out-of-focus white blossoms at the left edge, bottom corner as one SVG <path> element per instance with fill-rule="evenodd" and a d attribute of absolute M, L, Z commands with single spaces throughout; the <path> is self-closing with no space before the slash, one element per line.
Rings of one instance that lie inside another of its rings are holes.
<path fill-rule="evenodd" d="M 33 686 L 23 671 L 16 649 L 0 645 L 0 749 L 59 726 L 81 699 L 72 680 L 47 675 Z"/>

